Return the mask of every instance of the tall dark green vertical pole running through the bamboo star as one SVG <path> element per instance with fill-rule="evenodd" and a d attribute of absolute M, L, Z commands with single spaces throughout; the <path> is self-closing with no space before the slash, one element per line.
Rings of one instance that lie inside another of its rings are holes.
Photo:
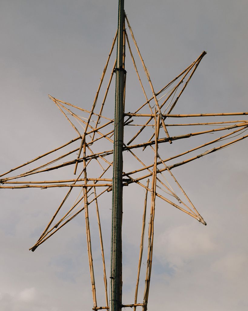
<path fill-rule="evenodd" d="M 113 146 L 113 197 L 110 263 L 110 311 L 122 310 L 122 170 L 123 170 L 123 69 L 124 0 L 118 0 L 118 35 Z"/>

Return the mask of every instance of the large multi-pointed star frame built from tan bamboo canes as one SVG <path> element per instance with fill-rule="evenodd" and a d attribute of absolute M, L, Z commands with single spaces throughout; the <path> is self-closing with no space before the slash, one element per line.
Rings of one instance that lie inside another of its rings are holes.
<path fill-rule="evenodd" d="M 142 307 L 142 310 L 147 310 L 149 286 L 151 280 L 151 269 L 152 269 L 152 258 L 153 258 L 153 237 L 154 237 L 154 217 L 155 217 L 155 201 L 157 198 L 168 203 L 168 206 L 173 206 L 180 211 L 183 211 L 187 215 L 198 220 L 203 225 L 206 225 L 205 220 L 197 211 L 196 207 L 193 205 L 192 201 L 189 199 L 185 193 L 183 187 L 176 179 L 175 175 L 172 173 L 172 169 L 191 161 L 197 160 L 207 154 L 215 151 L 224 149 L 225 147 L 231 146 L 236 142 L 239 142 L 246 137 L 248 134 L 243 135 L 248 128 L 248 120 L 225 120 L 222 117 L 239 117 L 246 118 L 248 112 L 241 113 L 198 113 L 198 114 L 172 114 L 172 110 L 175 108 L 176 104 L 179 102 L 182 93 L 188 86 L 189 81 L 193 77 L 198 65 L 200 64 L 202 58 L 206 55 L 206 52 L 202 52 L 199 57 L 196 58 L 193 63 L 191 63 L 186 69 L 179 73 L 174 79 L 167 83 L 160 91 L 155 91 L 153 84 L 145 66 L 144 60 L 140 54 L 137 42 L 135 40 L 133 31 L 129 24 L 127 17 L 125 16 L 128 29 L 130 30 L 130 35 L 133 41 L 133 45 L 136 49 L 136 53 L 139 56 L 141 64 L 144 69 L 145 76 L 147 77 L 148 84 L 150 86 L 150 95 L 145 91 L 145 88 L 141 82 L 141 77 L 139 75 L 134 54 L 131 51 L 131 43 L 127 35 L 126 29 L 124 27 L 123 35 L 123 63 L 125 64 L 125 46 L 127 45 L 130 52 L 131 60 L 134 66 L 134 70 L 137 74 L 141 90 L 144 94 L 144 102 L 137 105 L 134 112 L 125 112 L 124 110 L 124 127 L 128 128 L 128 135 L 124 136 L 125 143 L 122 146 L 123 153 L 129 154 L 136 161 L 135 169 L 129 172 L 123 172 L 123 187 L 130 186 L 135 183 L 141 188 L 145 189 L 145 199 L 144 199 L 144 214 L 142 218 L 142 232 L 141 232 L 141 243 L 139 250 L 139 261 L 138 261 L 138 273 L 137 282 L 135 287 L 134 302 L 132 304 L 122 305 L 122 307 L 131 307 L 136 309 L 136 307 Z M 95 99 L 92 104 L 91 110 L 83 109 L 74 104 L 64 102 L 55 97 L 49 95 L 49 98 L 57 106 L 60 112 L 64 115 L 70 125 L 76 132 L 76 137 L 64 143 L 64 145 L 59 146 L 49 152 L 42 154 L 29 160 L 28 162 L 19 165 L 13 169 L 10 169 L 4 174 L 0 175 L 0 188 L 57 188 L 57 187 L 67 187 L 68 190 L 62 199 L 59 207 L 55 211 L 51 220 L 48 222 L 41 236 L 37 242 L 30 248 L 34 251 L 39 245 L 47 241 L 53 234 L 60 230 L 64 225 L 69 223 L 82 211 L 85 212 L 86 221 L 86 242 L 89 258 L 89 269 L 91 276 L 91 286 L 92 286 L 92 296 L 93 296 L 93 310 L 98 309 L 109 309 L 108 306 L 108 293 L 107 293 L 107 276 L 106 267 L 104 259 L 104 247 L 100 223 L 100 214 L 98 207 L 98 198 L 106 193 L 111 193 L 112 191 L 112 167 L 113 167 L 113 123 L 114 119 L 109 118 L 104 115 L 104 108 L 106 104 L 106 99 L 108 91 L 111 85 L 112 78 L 116 71 L 116 60 L 113 62 L 113 67 L 110 72 L 110 77 L 107 82 L 107 87 L 105 93 L 103 93 L 103 100 L 100 105 L 98 104 L 98 97 L 100 94 L 101 86 L 104 81 L 104 77 L 109 65 L 109 61 L 112 55 L 112 51 L 117 38 L 117 33 L 113 39 L 113 44 L 111 46 L 106 65 L 104 67 L 100 84 L 97 89 Z M 123 70 L 125 66 L 123 65 Z M 125 81 L 126 81 L 125 72 Z M 126 92 L 126 87 L 125 90 Z M 124 107 L 125 107 L 125 94 L 124 93 Z M 106 109 L 105 109 L 106 110 Z M 206 117 L 211 118 L 211 122 L 206 122 Z M 217 121 L 212 121 L 217 118 Z M 181 119 L 190 120 L 183 121 L 180 123 Z M 219 118 L 219 119 L 218 119 Z M 220 119 L 221 118 L 221 119 Z M 194 122 L 194 119 L 197 121 Z M 203 119 L 203 122 L 198 122 L 199 119 Z M 174 123 L 174 120 L 175 123 Z M 179 123 L 177 121 L 179 120 Z M 193 121 L 191 121 L 193 120 Z M 80 128 L 79 128 L 80 126 Z M 184 134 L 173 134 L 173 130 L 200 127 L 200 131 L 192 132 L 188 130 Z M 212 128 L 213 127 L 213 128 Z M 138 129 L 138 130 L 136 130 Z M 189 150 L 181 151 L 173 156 L 163 157 L 159 149 L 164 146 L 165 143 L 168 150 L 173 149 L 173 145 L 178 140 L 188 140 L 190 142 L 194 137 L 202 136 L 206 137 L 209 133 L 220 132 L 219 137 L 216 137 L 207 142 L 201 143 L 198 146 L 194 146 Z M 131 135 L 130 135 L 131 133 Z M 125 133 L 126 134 L 126 133 Z M 148 137 L 148 138 L 147 138 Z M 68 148 L 70 145 L 75 145 L 76 148 L 62 152 L 63 148 Z M 214 146 L 211 146 L 214 145 Z M 204 148 L 207 147 L 207 150 Z M 200 150 L 201 151 L 198 151 Z M 204 149 L 202 151 L 202 149 Z M 196 154 L 196 152 L 197 154 Z M 52 160 L 44 161 L 40 164 L 47 156 L 51 157 L 53 154 L 62 153 L 56 156 Z M 151 152 L 153 156 L 151 157 Z M 192 154 L 193 156 L 190 156 Z M 150 159 L 150 160 L 148 160 Z M 175 161 L 176 160 L 176 161 Z M 30 168 L 32 165 L 39 165 Z M 29 169 L 25 170 L 28 166 Z M 33 175 L 44 176 L 46 172 L 52 170 L 65 169 L 67 166 L 72 167 L 75 178 L 63 179 L 63 180 L 27 180 L 27 177 L 33 178 Z M 24 169 L 24 171 L 17 175 L 12 175 L 15 170 Z M 93 173 L 92 173 L 93 172 Z M 94 177 L 93 174 L 96 174 Z M 165 177 L 166 176 L 168 177 Z M 168 180 L 172 180 L 177 187 L 174 191 Z M 73 192 L 74 188 L 79 187 L 80 193 L 75 199 L 75 202 L 68 209 L 68 211 L 60 219 L 57 219 L 58 213 L 65 204 L 68 197 Z M 148 224 L 148 256 L 147 256 L 147 271 L 145 276 L 145 287 L 144 287 L 144 299 L 142 303 L 137 303 L 137 295 L 139 288 L 139 278 L 140 278 L 140 267 L 143 255 L 144 246 L 144 232 L 145 232 L 145 222 L 147 213 L 147 201 L 148 192 L 151 195 L 151 205 L 150 205 L 150 220 Z M 90 219 L 89 219 L 89 206 L 95 204 L 97 222 L 99 226 L 99 236 L 100 236 L 100 248 L 103 261 L 103 274 L 104 274 L 104 288 L 105 288 L 105 303 L 106 306 L 99 307 L 96 299 L 96 288 L 95 288 L 95 277 L 93 268 L 93 259 L 91 251 L 91 231 L 90 231 Z"/>

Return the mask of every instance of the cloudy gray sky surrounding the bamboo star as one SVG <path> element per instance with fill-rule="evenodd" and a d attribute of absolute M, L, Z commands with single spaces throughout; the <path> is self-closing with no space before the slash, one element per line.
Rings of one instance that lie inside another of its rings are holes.
<path fill-rule="evenodd" d="M 175 113 L 247 111 L 247 9 L 246 1 L 125 1 L 156 90 L 207 51 Z M 47 94 L 89 109 L 116 25 L 114 1 L 1 2 L 1 173 L 75 137 Z M 126 106 L 131 110 L 144 99 L 130 62 L 127 57 Z M 108 100 L 105 115 L 113 114 Z M 173 143 L 166 146 L 170 150 L 162 150 L 174 153 L 172 148 L 184 151 L 189 146 L 188 142 Z M 247 152 L 247 140 L 243 140 L 173 170 L 208 225 L 157 200 L 148 310 L 161 308 L 163 303 L 171 311 L 247 310 Z M 47 176 L 56 179 L 57 173 Z M 144 201 L 143 190 L 127 188 L 125 304 L 133 303 Z M 92 308 L 83 213 L 34 253 L 28 250 L 64 194 L 64 189 L 0 190 L 1 310 Z M 108 268 L 111 207 L 104 202 L 102 206 Z M 96 230 L 92 224 L 93 241 Z M 100 253 L 96 247 L 93 252 L 101 292 Z M 146 256 L 145 249 L 144 264 Z M 142 295 L 141 290 L 139 302 Z M 100 293 L 98 301 L 104 305 Z"/>

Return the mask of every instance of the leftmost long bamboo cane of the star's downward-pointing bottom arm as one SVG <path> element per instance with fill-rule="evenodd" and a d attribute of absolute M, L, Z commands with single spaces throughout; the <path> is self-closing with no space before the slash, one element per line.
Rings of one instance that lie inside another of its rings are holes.
<path fill-rule="evenodd" d="M 83 156 L 84 158 L 86 157 L 86 142 L 85 141 L 83 144 Z M 86 173 L 86 161 L 85 160 L 83 160 L 83 168 L 84 168 L 83 169 L 84 182 L 85 184 L 87 184 L 87 173 Z M 90 231 L 90 220 L 89 220 L 89 212 L 88 212 L 88 197 L 87 197 L 87 190 L 85 187 L 83 188 L 83 194 L 84 194 L 86 241 L 87 241 L 87 250 L 88 250 L 88 257 L 89 257 L 92 296 L 93 296 L 94 307 L 97 307 L 96 292 L 95 292 L 95 276 L 94 276 L 93 258 L 92 258 L 92 251 L 91 251 L 91 231 Z"/>

